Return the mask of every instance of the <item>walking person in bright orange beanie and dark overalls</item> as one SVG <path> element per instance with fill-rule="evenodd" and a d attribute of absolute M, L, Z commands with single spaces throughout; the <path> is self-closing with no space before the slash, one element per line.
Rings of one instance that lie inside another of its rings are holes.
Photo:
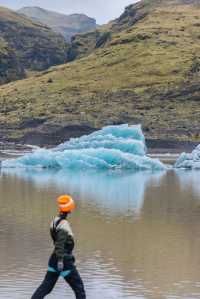
<path fill-rule="evenodd" d="M 83 281 L 76 269 L 73 256 L 74 237 L 70 224 L 67 221 L 68 214 L 75 209 L 75 203 L 69 195 L 62 195 L 57 201 L 59 215 L 52 221 L 50 226 L 54 251 L 50 256 L 44 281 L 31 299 L 43 299 L 51 293 L 59 277 L 63 277 L 69 284 L 74 291 L 76 299 L 85 299 L 86 294 Z"/>

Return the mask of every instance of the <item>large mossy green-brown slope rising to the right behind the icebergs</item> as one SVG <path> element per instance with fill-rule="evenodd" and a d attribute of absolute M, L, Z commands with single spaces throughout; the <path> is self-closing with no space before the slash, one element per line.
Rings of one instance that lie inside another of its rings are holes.
<path fill-rule="evenodd" d="M 178 2 L 129 6 L 89 56 L 2 86 L 1 138 L 59 143 L 127 122 L 149 139 L 199 142 L 200 6 Z"/>

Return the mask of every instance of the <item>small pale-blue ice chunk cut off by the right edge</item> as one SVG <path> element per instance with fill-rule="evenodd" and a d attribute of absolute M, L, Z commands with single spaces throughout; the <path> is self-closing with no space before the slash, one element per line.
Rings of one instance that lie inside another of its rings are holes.
<path fill-rule="evenodd" d="M 182 153 L 175 163 L 175 168 L 200 169 L 200 144 L 192 153 Z"/>

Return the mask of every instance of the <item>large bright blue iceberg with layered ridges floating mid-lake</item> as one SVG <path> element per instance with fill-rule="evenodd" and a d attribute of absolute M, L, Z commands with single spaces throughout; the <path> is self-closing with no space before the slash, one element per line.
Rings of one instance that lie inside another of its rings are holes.
<path fill-rule="evenodd" d="M 59 146 L 38 149 L 2 162 L 6 168 L 164 170 L 166 166 L 146 155 L 140 125 L 108 126 L 88 136 L 72 138 Z"/>

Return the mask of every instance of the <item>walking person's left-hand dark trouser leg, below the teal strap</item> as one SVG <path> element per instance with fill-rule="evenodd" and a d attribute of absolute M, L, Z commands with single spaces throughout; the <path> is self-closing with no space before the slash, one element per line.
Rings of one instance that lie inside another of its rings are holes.
<path fill-rule="evenodd" d="M 56 272 L 47 272 L 44 281 L 39 286 L 39 288 L 35 291 L 31 299 L 43 299 L 46 295 L 51 293 L 53 290 L 57 280 L 59 278 L 59 274 Z"/>

